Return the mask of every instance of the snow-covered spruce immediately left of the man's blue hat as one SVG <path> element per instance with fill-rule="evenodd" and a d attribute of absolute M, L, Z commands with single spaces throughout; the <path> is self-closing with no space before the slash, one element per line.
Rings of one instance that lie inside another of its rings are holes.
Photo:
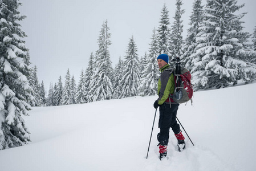
<path fill-rule="evenodd" d="M 157 94 L 157 82 L 159 79 L 159 68 L 157 67 L 157 56 L 159 56 L 159 49 L 157 46 L 156 30 L 153 29 L 151 43 L 149 44 L 149 55 L 145 72 L 141 76 L 141 84 L 144 85 L 142 92 L 143 96 L 151 96 Z"/>

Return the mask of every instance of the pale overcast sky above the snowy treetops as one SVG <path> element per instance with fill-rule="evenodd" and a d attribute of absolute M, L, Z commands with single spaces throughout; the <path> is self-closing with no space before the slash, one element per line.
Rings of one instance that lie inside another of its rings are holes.
<path fill-rule="evenodd" d="M 26 32 L 26 47 L 30 49 L 31 66 L 38 67 L 38 79 L 48 89 L 57 83 L 67 69 L 79 81 L 80 71 L 88 66 L 91 52 L 98 48 L 97 39 L 101 25 L 108 20 L 111 33 L 109 51 L 113 67 L 119 56 L 124 58 L 129 38 L 133 35 L 139 56 L 148 51 L 152 30 L 159 27 L 161 10 L 166 3 L 170 23 L 173 23 L 176 0 L 20 0 L 21 23 Z M 188 29 L 193 0 L 183 0 L 182 15 L 184 38 Z M 205 3 L 204 0 L 202 0 Z M 239 13 L 248 12 L 243 18 L 245 31 L 250 33 L 256 26 L 256 1 L 238 0 L 245 3 Z"/>

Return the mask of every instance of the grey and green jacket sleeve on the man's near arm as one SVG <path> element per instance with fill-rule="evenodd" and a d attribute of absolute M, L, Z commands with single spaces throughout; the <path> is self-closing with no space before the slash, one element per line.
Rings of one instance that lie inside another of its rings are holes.
<path fill-rule="evenodd" d="M 163 104 L 168 99 L 169 94 L 174 89 L 174 78 L 173 74 L 170 75 L 169 71 L 162 72 L 160 76 L 160 91 L 159 91 L 159 104 Z"/>

